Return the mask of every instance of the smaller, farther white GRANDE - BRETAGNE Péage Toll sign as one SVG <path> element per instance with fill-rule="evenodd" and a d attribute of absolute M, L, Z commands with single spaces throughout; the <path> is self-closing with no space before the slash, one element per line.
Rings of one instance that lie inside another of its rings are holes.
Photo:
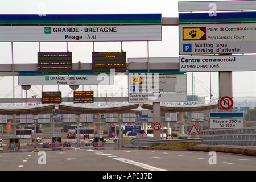
<path fill-rule="evenodd" d="M 114 84 L 111 75 L 47 75 L 19 76 L 18 85 L 109 85 Z"/>

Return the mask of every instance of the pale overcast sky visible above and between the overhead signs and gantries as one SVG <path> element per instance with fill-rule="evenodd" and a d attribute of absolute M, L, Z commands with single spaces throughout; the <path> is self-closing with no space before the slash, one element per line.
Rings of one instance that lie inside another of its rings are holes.
<path fill-rule="evenodd" d="M 1 14 L 134 14 L 160 13 L 162 17 L 178 17 L 177 0 L 0 0 Z M 178 26 L 163 26 L 162 41 L 150 42 L 150 57 L 179 56 Z M 147 42 L 123 42 L 122 48 L 127 58 L 147 57 Z M 74 63 L 92 61 L 92 42 L 69 42 Z M 40 43 L 41 52 L 65 52 L 66 43 Z M 95 51 L 120 51 L 119 42 L 96 42 Z M 14 43 L 14 63 L 37 63 L 38 43 Z M 0 64 L 11 63 L 11 43 L 0 43 Z M 1 66 L 1 65 L 0 65 Z M 191 72 L 187 73 L 187 94 L 192 94 Z M 209 96 L 209 72 L 194 72 L 194 94 Z M 212 72 L 212 94 L 218 97 L 218 72 Z M 16 78 L 17 80 L 17 78 Z M 12 90 L 11 77 L 0 77 L 0 98 L 4 98 Z M 16 81 L 17 85 L 18 81 Z M 120 80 L 121 84 L 121 80 Z M 125 84 L 123 86 L 127 88 Z M 32 87 L 40 96 L 41 86 Z M 63 96 L 71 89 L 60 86 Z M 80 88 L 81 89 L 81 86 Z M 104 90 L 105 88 L 103 88 Z M 57 86 L 46 86 L 44 90 L 57 90 Z M 119 92 L 119 87 L 113 89 Z M 16 97 L 20 97 L 20 87 L 16 89 Z M 28 97 L 34 93 L 28 92 Z M 256 72 L 233 72 L 233 97 L 256 97 Z M 9 95 L 12 97 L 12 94 Z"/>

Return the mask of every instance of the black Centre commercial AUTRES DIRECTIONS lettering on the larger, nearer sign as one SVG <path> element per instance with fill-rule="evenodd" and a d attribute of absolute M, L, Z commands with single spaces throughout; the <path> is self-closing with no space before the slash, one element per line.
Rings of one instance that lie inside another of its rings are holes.
<path fill-rule="evenodd" d="M 199 59 L 199 58 L 192 58 L 192 59 L 186 59 L 185 57 L 181 57 L 180 59 L 181 63 L 223 63 L 223 62 L 236 62 L 236 57 L 227 57 L 227 58 L 203 58 L 203 59 Z M 185 68 L 185 67 L 191 67 L 191 68 L 196 68 L 196 65 L 182 65 L 181 68 Z M 218 68 L 219 65 L 197 65 L 198 67 L 204 67 L 204 68 Z"/>

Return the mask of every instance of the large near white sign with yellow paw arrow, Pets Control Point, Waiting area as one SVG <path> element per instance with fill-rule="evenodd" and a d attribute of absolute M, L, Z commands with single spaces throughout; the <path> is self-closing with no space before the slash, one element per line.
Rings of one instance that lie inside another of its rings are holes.
<path fill-rule="evenodd" d="M 255 23 L 180 24 L 179 54 L 255 53 Z"/>

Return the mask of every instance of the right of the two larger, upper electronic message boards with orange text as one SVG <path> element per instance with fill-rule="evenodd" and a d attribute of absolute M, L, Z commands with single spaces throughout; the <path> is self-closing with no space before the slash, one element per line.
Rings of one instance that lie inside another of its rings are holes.
<path fill-rule="evenodd" d="M 126 72 L 126 52 L 93 52 L 92 72 Z"/>

